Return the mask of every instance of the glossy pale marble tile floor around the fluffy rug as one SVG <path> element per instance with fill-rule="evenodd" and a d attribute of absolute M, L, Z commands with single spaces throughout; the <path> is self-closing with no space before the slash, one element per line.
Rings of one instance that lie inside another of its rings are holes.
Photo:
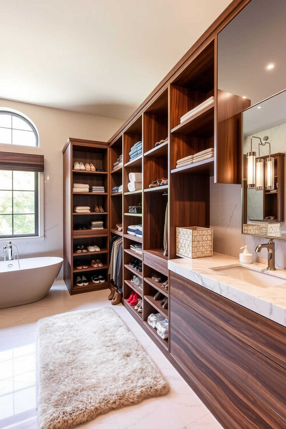
<path fill-rule="evenodd" d="M 108 305 L 108 290 L 70 296 L 63 281 L 32 304 L 0 310 L 0 428 L 38 429 L 36 419 L 36 323 L 52 314 Z M 169 381 L 167 396 L 111 411 L 80 429 L 221 429 L 208 409 L 156 344 L 123 307 L 112 308 L 124 320 Z"/>

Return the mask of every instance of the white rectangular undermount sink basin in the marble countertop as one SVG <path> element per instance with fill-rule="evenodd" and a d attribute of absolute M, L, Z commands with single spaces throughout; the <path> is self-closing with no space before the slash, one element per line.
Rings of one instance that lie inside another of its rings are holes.
<path fill-rule="evenodd" d="M 254 270 L 251 266 L 232 265 L 211 268 L 213 271 L 259 287 L 286 286 L 286 278 Z"/>

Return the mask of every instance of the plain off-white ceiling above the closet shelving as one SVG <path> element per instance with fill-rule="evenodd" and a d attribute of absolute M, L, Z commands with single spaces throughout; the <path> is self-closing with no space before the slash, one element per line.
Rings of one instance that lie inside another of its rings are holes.
<path fill-rule="evenodd" d="M 126 120 L 230 0 L 0 0 L 0 98 Z"/>

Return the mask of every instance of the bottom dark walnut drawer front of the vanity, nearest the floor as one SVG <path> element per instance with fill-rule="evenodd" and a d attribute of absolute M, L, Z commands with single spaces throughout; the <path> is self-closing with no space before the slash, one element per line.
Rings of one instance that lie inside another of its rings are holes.
<path fill-rule="evenodd" d="M 286 422 L 171 323 L 170 353 L 211 401 L 243 429 L 282 429 Z M 229 427 L 232 427 L 231 424 Z"/>

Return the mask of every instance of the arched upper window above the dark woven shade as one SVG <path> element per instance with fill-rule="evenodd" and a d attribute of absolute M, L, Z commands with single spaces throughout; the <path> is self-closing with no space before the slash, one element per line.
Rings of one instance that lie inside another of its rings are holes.
<path fill-rule="evenodd" d="M 36 127 L 20 112 L 0 108 L 0 143 L 38 146 Z"/>

